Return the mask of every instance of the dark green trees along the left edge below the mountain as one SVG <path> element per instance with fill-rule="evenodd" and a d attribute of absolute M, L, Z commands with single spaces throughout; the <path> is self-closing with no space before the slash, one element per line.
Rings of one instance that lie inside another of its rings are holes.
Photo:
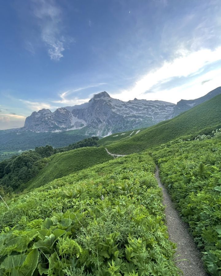
<path fill-rule="evenodd" d="M 0 187 L 5 192 L 16 190 L 22 183 L 28 182 L 49 162 L 51 155 L 76 148 L 97 146 L 98 137 L 86 138 L 63 148 L 36 147 L 19 156 L 0 162 Z"/>

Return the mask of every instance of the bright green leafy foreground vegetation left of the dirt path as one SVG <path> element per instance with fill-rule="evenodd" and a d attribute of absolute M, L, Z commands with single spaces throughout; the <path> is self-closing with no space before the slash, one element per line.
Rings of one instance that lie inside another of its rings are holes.
<path fill-rule="evenodd" d="M 0 203 L 0 274 L 178 276 L 154 170 L 130 155 Z"/>

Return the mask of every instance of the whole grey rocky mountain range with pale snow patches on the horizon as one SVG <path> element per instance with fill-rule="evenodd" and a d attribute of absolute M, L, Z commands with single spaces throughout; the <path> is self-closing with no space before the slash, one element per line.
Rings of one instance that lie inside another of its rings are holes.
<path fill-rule="evenodd" d="M 196 100 L 181 100 L 177 105 L 163 101 L 134 99 L 123 102 L 103 91 L 82 105 L 67 106 L 51 112 L 41 109 L 25 120 L 22 131 L 59 132 L 82 129 L 87 135 L 107 136 L 143 128 L 168 120 L 221 93 L 221 87 Z"/>

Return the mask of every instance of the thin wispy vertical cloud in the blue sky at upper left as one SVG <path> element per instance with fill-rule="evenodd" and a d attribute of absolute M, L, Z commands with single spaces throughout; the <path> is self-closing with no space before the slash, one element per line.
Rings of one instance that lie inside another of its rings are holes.
<path fill-rule="evenodd" d="M 41 29 L 41 39 L 48 48 L 48 55 L 52 60 L 63 57 L 65 44 L 73 41 L 61 33 L 63 29 L 62 10 L 54 0 L 33 0 L 33 15 Z M 28 42 L 30 52 L 34 52 L 33 45 Z"/>

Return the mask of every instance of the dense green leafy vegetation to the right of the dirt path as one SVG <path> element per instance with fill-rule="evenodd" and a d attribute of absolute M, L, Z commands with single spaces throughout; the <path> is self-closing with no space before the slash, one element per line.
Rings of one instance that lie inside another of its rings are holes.
<path fill-rule="evenodd" d="M 221 275 L 220 131 L 211 139 L 202 136 L 206 140 L 171 142 L 151 150 L 161 180 L 214 276 Z"/>

